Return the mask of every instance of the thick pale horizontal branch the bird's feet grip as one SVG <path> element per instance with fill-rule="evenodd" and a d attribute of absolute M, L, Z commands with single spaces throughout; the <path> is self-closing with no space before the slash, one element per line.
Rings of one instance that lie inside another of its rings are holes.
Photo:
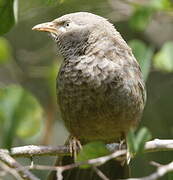
<path fill-rule="evenodd" d="M 116 144 L 114 150 L 119 149 L 119 144 Z M 155 139 L 148 141 L 145 144 L 144 152 L 156 152 L 156 151 L 172 151 L 173 140 L 161 140 Z M 64 156 L 70 155 L 69 146 L 35 146 L 28 145 L 22 147 L 11 148 L 9 152 L 6 149 L 0 149 L 1 152 L 8 153 L 12 157 L 33 157 L 33 156 Z"/>

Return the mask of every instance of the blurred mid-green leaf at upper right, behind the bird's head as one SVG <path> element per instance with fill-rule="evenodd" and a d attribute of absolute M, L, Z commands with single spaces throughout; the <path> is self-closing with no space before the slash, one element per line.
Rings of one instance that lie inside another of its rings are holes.
<path fill-rule="evenodd" d="M 150 22 L 154 9 L 147 6 L 139 6 L 129 19 L 129 25 L 136 31 L 144 31 Z"/>

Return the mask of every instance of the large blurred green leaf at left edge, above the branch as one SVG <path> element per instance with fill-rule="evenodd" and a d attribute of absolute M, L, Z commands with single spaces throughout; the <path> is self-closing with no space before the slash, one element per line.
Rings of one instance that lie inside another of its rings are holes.
<path fill-rule="evenodd" d="M 0 89 L 0 118 L 3 122 L 3 146 L 10 148 L 14 137 L 35 135 L 41 128 L 42 108 L 28 91 L 11 85 Z"/>

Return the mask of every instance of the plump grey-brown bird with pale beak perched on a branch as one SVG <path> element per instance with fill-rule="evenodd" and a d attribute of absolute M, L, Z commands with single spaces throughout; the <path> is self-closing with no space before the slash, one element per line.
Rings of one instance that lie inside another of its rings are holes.
<path fill-rule="evenodd" d="M 71 137 L 82 145 L 125 139 L 140 122 L 146 88 L 131 48 L 114 25 L 93 13 L 74 12 L 32 29 L 50 33 L 63 57 L 57 102 Z M 64 157 L 64 162 L 73 162 L 70 158 Z M 110 179 L 124 177 L 120 162 L 116 168 Z M 74 170 L 71 178 L 66 173 L 64 179 L 99 179 L 95 174 L 86 175 L 89 170 L 81 171 Z"/>

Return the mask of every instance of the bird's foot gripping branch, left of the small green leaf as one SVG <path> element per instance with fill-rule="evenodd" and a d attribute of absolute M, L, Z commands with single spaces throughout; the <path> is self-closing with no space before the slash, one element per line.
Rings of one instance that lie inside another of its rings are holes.
<path fill-rule="evenodd" d="M 69 138 L 69 148 L 71 156 L 73 156 L 74 160 L 76 160 L 77 153 L 82 149 L 80 141 L 76 137 L 71 136 Z"/>

